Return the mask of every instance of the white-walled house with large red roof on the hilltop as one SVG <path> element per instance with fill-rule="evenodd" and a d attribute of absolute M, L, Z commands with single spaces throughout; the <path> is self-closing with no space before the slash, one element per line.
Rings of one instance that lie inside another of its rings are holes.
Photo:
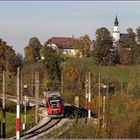
<path fill-rule="evenodd" d="M 76 56 L 78 49 L 76 49 L 77 39 L 74 37 L 52 37 L 48 40 L 48 47 L 52 47 L 63 54 Z"/>

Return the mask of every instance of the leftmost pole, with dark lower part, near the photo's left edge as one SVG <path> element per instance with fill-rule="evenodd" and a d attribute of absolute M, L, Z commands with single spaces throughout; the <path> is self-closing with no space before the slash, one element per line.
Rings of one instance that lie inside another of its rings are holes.
<path fill-rule="evenodd" d="M 5 93 L 6 93 L 6 73 L 3 71 L 3 102 L 2 102 L 2 138 L 6 138 L 6 111 L 5 111 Z"/>

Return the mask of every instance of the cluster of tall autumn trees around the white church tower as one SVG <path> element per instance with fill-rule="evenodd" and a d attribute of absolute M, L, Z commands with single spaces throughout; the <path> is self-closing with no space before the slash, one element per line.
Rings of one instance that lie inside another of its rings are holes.
<path fill-rule="evenodd" d="M 95 35 L 92 56 L 97 64 L 134 65 L 140 63 L 140 27 L 136 29 L 136 33 L 132 28 L 128 28 L 125 39 L 120 40 L 117 46 L 113 45 L 113 38 L 107 28 L 97 29 Z"/>

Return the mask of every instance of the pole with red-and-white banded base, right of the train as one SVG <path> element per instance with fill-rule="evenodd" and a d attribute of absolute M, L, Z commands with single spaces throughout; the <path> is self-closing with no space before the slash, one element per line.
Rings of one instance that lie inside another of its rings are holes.
<path fill-rule="evenodd" d="M 90 72 L 89 72 L 89 80 L 88 80 L 88 118 L 91 118 L 91 83 L 90 83 Z"/>

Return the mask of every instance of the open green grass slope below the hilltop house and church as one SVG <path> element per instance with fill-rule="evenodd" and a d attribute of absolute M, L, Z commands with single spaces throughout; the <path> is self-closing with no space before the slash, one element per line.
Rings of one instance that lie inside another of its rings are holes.
<path fill-rule="evenodd" d="M 91 71 L 94 74 L 101 73 L 102 77 L 128 83 L 132 76 L 140 71 L 140 66 L 97 66 L 92 58 L 76 58 L 65 62 L 77 69 Z"/>

